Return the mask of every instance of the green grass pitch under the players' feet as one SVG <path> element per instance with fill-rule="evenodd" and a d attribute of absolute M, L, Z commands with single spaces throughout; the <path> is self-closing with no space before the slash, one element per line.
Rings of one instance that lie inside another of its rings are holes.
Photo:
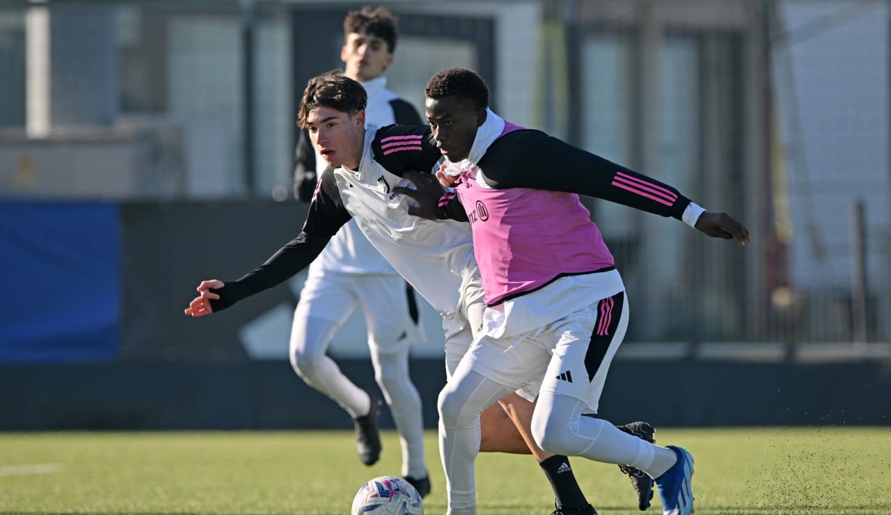
<path fill-rule="evenodd" d="M 344 514 L 366 479 L 399 474 L 396 434 L 383 436 L 365 467 L 347 431 L 0 433 L 0 512 Z M 699 514 L 891 513 L 888 428 L 661 429 L 657 441 L 693 453 Z M 445 513 L 432 431 L 427 452 L 426 512 Z M 572 463 L 601 515 L 640 513 L 615 465 Z M 481 455 L 477 486 L 480 514 L 552 511 L 530 456 Z"/>

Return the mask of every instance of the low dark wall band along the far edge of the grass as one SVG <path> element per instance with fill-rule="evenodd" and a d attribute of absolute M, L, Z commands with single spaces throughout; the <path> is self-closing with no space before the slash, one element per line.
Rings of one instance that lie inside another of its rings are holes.
<path fill-rule="evenodd" d="M 371 364 L 339 360 L 361 387 Z M 437 427 L 443 362 L 413 359 L 424 425 Z M 671 388 L 666 388 L 670 385 Z M 350 429 L 347 413 L 285 361 L 0 368 L 0 430 Z M 658 427 L 891 424 L 891 364 L 756 364 L 617 359 L 601 398 L 609 421 Z M 392 428 L 387 409 L 381 426 Z"/>

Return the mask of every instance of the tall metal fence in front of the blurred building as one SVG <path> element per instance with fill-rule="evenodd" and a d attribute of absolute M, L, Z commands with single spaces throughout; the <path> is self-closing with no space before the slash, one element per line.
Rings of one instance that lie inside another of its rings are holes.
<path fill-rule="evenodd" d="M 891 341 L 885 1 L 385 2 L 388 86 L 496 111 L 743 220 L 738 249 L 587 200 L 629 341 Z M 0 195 L 288 200 L 294 113 L 358 4 L 0 2 Z"/>

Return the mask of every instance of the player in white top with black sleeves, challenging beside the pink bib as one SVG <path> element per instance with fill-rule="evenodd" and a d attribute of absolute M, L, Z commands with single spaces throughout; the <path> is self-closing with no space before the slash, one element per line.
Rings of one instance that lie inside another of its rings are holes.
<path fill-rule="evenodd" d="M 240 279 L 201 282 L 199 295 L 185 314 L 216 313 L 287 280 L 308 266 L 342 225 L 355 219 L 375 248 L 442 315 L 450 376 L 481 327 L 484 307 L 470 227 L 408 213 L 412 200 L 394 188 L 410 184 L 402 177 L 408 170 L 432 171 L 441 153 L 427 126 L 366 128 L 365 98 L 358 82 L 339 73 L 310 80 L 298 123 L 308 127 L 316 149 L 332 169 L 325 170 L 316 185 L 302 231 Z M 474 454 L 535 454 L 557 498 L 554 513 L 594 513 L 566 456 L 535 446 L 529 429 L 532 404 L 511 392 L 499 402 L 504 411 L 493 405 L 480 415 Z"/>

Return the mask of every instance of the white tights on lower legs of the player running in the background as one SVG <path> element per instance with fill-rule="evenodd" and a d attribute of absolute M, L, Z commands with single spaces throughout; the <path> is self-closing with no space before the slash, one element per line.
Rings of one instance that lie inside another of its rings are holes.
<path fill-rule="evenodd" d="M 323 393 L 356 418 L 371 409 L 364 389 L 357 387 L 340 372 L 334 360 L 325 354 L 339 325 L 328 319 L 295 317 L 290 335 L 290 364 L 300 378 Z M 402 473 L 423 478 L 427 475 L 423 455 L 423 420 L 421 396 L 408 374 L 408 351 L 381 354 L 380 346 L 372 350 L 374 379 L 390 407 L 399 442 L 402 446 Z"/>

